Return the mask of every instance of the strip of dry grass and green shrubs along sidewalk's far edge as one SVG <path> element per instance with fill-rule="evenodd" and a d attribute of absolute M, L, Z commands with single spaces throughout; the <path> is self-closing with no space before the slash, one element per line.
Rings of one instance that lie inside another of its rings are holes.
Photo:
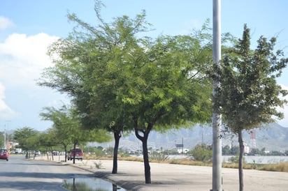
<path fill-rule="evenodd" d="M 85 159 L 87 160 L 112 160 L 113 155 L 110 154 L 113 148 L 108 148 L 106 151 L 102 151 L 103 148 L 90 148 L 90 151 L 94 151 L 94 153 L 86 154 Z M 210 155 L 210 151 L 212 148 L 206 144 L 199 144 L 195 146 L 192 151 L 186 155 L 186 158 L 181 159 L 169 159 L 168 155 L 163 152 L 154 151 L 150 154 L 150 162 L 159 162 L 159 163 L 167 163 L 173 165 L 193 165 L 193 166 L 205 166 L 212 167 L 212 155 Z M 192 154 L 194 153 L 194 155 Z M 195 159 L 195 155 L 198 159 Z M 207 156 L 210 155 L 210 159 Z M 235 155 L 230 158 L 229 162 L 222 162 L 223 168 L 232 168 L 238 169 L 238 159 L 239 156 Z M 137 161 L 143 162 L 143 158 L 138 157 L 136 155 L 130 155 L 127 151 L 122 151 L 120 149 L 118 160 L 127 160 L 127 161 Z M 257 163 L 247 163 L 245 159 L 243 160 L 243 169 L 257 169 L 264 171 L 283 171 L 288 172 L 288 162 L 280 162 L 278 164 L 257 164 Z"/>

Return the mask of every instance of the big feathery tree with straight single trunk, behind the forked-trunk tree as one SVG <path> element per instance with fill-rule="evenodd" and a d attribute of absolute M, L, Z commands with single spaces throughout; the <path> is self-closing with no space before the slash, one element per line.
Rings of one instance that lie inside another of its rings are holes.
<path fill-rule="evenodd" d="M 80 27 L 50 47 L 50 56 L 57 55 L 56 65 L 45 70 L 45 80 L 39 84 L 71 95 L 86 128 L 113 132 L 113 173 L 117 173 L 120 137 L 123 131 L 133 130 L 127 109 L 117 99 L 117 89 L 123 88 L 129 75 L 124 70 L 125 60 L 131 59 L 131 52 L 141 49 L 136 34 L 145 31 L 149 24 L 144 11 L 135 19 L 123 16 L 108 24 L 99 14 L 100 7 L 96 3 L 97 27 L 82 22 L 74 14 L 68 15 Z"/>

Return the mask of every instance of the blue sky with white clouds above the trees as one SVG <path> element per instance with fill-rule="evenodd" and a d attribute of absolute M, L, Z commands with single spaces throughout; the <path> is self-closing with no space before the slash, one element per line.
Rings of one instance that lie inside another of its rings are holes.
<path fill-rule="evenodd" d="M 146 20 L 153 31 L 146 35 L 185 35 L 213 21 L 213 1 L 191 0 L 103 0 L 101 16 L 106 22 L 115 17 L 135 17 L 146 11 Z M 260 36 L 276 36 L 276 47 L 288 57 L 288 1 L 287 0 L 222 0 L 222 33 L 241 38 L 244 24 L 251 29 L 252 46 Z M 52 122 L 39 116 L 43 107 L 60 107 L 69 98 L 53 89 L 38 86 L 44 68 L 53 66 L 46 54 L 48 46 L 59 38 L 66 38 L 74 23 L 67 13 L 94 26 L 98 25 L 94 0 L 10 0 L 0 1 L 0 131 L 23 127 L 46 130 Z M 278 84 L 288 89 L 288 68 Z M 288 98 L 287 98 L 288 99 Z M 285 119 L 278 121 L 288 127 L 288 106 L 280 108 Z"/>

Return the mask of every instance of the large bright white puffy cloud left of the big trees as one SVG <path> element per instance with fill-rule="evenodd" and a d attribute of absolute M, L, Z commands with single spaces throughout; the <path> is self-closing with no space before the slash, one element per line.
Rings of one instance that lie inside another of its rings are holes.
<path fill-rule="evenodd" d="M 43 68 L 52 66 L 46 54 L 58 37 L 38 33 L 35 36 L 13 33 L 0 43 L 0 80 L 6 86 L 33 86 Z"/>

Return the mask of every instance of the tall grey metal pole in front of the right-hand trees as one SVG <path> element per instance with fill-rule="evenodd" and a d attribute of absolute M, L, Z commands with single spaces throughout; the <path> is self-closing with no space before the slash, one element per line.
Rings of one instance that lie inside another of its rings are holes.
<path fill-rule="evenodd" d="M 221 59 L 221 0 L 213 0 L 213 61 L 218 65 Z M 216 74 L 217 75 L 217 74 Z M 213 80 L 213 97 L 217 95 L 219 82 Z M 213 105 L 215 104 L 213 100 Z M 221 133 L 221 114 L 219 109 L 213 107 L 213 180 L 212 190 L 222 191 L 222 140 Z"/>

